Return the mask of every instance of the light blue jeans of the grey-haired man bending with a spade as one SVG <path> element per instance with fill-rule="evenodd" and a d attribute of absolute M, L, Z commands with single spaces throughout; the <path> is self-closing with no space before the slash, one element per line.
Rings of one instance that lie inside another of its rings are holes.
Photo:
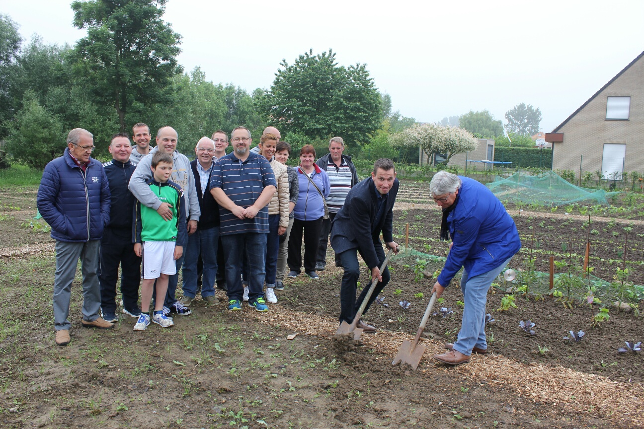
<path fill-rule="evenodd" d="M 465 308 L 463 309 L 463 323 L 453 350 L 470 356 L 474 347 L 488 348 L 485 336 L 485 306 L 488 300 L 488 289 L 510 262 L 510 259 L 512 258 L 508 258 L 500 266 L 487 273 L 471 278 L 463 270 L 463 275 L 460 278 L 460 290 L 463 292 Z"/>

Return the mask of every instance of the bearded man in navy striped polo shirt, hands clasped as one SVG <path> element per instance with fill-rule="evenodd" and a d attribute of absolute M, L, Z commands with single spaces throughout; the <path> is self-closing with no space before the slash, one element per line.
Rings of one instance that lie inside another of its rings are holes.
<path fill-rule="evenodd" d="M 269 161 L 251 152 L 251 131 L 232 130 L 233 151 L 213 165 L 210 188 L 219 204 L 220 230 L 225 248 L 228 309 L 242 309 L 242 266 L 249 264 L 249 301 L 257 311 L 268 311 L 263 294 L 268 204 L 277 183 Z"/>

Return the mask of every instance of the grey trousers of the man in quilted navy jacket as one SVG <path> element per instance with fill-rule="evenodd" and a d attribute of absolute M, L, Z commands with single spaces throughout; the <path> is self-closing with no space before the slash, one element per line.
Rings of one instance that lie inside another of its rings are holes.
<path fill-rule="evenodd" d="M 70 329 L 71 283 L 81 259 L 82 318 L 93 322 L 100 316 L 99 268 L 100 240 L 88 242 L 56 241 L 56 273 L 53 280 L 53 320 L 56 331 Z"/>

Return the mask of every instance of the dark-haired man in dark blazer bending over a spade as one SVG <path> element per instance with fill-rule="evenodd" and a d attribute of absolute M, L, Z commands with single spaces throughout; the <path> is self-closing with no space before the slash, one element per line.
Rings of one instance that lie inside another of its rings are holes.
<path fill-rule="evenodd" d="M 398 244 L 393 241 L 392 235 L 393 204 L 396 194 L 398 194 L 398 179 L 396 179 L 393 161 L 381 158 L 375 161 L 371 177 L 351 188 L 346 196 L 345 205 L 337 212 L 333 221 L 331 246 L 345 269 L 340 289 L 340 323 L 353 322 L 357 309 L 371 287 L 371 282 L 377 278 L 379 283 L 369 298 L 364 313 L 389 282 L 389 270 L 384 268 L 384 271 L 380 272 L 380 265 L 385 258 L 380 233 L 383 233 L 386 246 L 397 252 Z M 360 252 L 371 270 L 372 280 L 356 300 L 355 291 L 360 277 L 357 252 Z M 375 331 L 375 327 L 362 320 L 357 326 L 363 328 L 364 332 Z"/>

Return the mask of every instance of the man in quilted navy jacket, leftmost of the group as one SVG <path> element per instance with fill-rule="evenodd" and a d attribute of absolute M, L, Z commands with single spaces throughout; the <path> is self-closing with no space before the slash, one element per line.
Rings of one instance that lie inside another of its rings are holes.
<path fill-rule="evenodd" d="M 109 186 L 103 165 L 93 160 L 94 138 L 82 128 L 67 136 L 63 156 L 46 165 L 38 188 L 37 206 L 52 227 L 56 241 L 53 284 L 53 318 L 56 343 L 70 342 L 71 282 L 79 258 L 82 262 L 82 326 L 110 329 L 114 324 L 100 317 L 97 277 L 100 238 L 109 223 Z"/>

